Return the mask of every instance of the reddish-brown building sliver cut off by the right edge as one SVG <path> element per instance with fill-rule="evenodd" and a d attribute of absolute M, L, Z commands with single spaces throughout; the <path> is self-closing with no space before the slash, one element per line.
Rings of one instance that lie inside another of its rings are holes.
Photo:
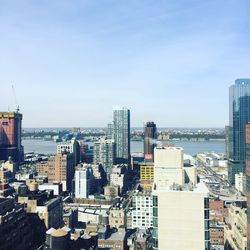
<path fill-rule="evenodd" d="M 250 250 L 250 123 L 246 125 L 247 250 Z"/>

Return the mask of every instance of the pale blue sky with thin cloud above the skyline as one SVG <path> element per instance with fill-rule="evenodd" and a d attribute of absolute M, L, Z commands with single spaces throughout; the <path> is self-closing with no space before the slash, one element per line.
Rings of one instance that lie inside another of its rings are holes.
<path fill-rule="evenodd" d="M 24 127 L 223 127 L 250 77 L 249 0 L 0 0 L 0 110 Z"/>

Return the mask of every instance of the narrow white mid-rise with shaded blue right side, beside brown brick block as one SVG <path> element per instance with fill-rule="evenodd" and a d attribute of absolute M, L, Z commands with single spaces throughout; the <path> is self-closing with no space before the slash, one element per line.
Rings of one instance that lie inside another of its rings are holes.
<path fill-rule="evenodd" d="M 75 170 L 75 198 L 88 198 L 94 189 L 94 175 L 90 164 L 79 164 Z"/>

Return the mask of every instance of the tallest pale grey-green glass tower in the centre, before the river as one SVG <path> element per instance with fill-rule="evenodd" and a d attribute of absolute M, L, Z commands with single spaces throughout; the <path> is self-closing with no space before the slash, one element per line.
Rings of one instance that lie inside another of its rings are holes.
<path fill-rule="evenodd" d="M 113 134 L 116 163 L 130 162 L 130 111 L 125 107 L 113 109 Z"/>

